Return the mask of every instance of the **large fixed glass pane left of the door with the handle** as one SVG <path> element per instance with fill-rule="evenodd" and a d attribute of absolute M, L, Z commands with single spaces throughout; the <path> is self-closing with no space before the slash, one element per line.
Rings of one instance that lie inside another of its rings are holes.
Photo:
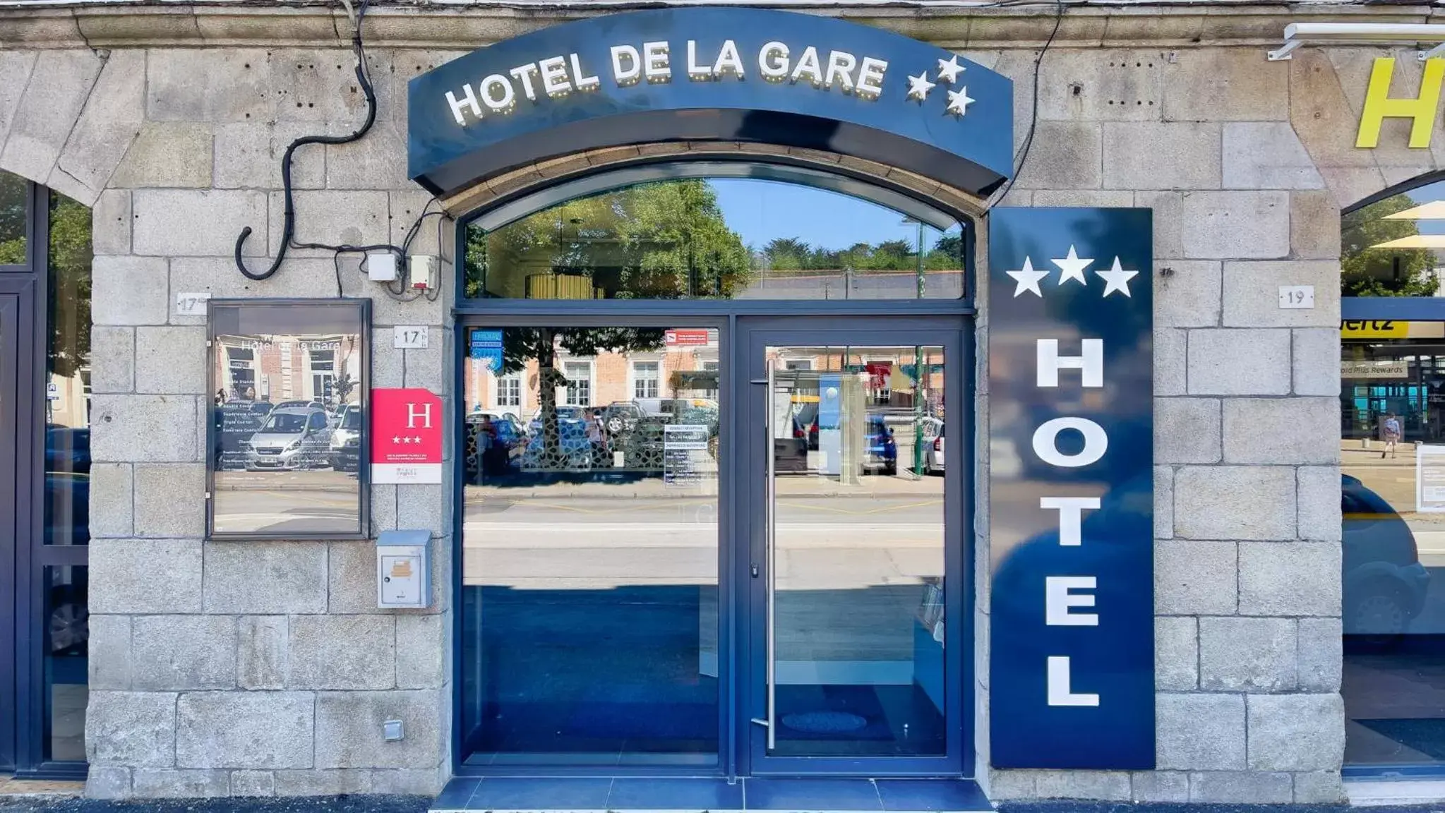
<path fill-rule="evenodd" d="M 467 764 L 715 764 L 718 332 L 468 345 Z M 652 370 L 656 397 L 634 397 Z"/>

